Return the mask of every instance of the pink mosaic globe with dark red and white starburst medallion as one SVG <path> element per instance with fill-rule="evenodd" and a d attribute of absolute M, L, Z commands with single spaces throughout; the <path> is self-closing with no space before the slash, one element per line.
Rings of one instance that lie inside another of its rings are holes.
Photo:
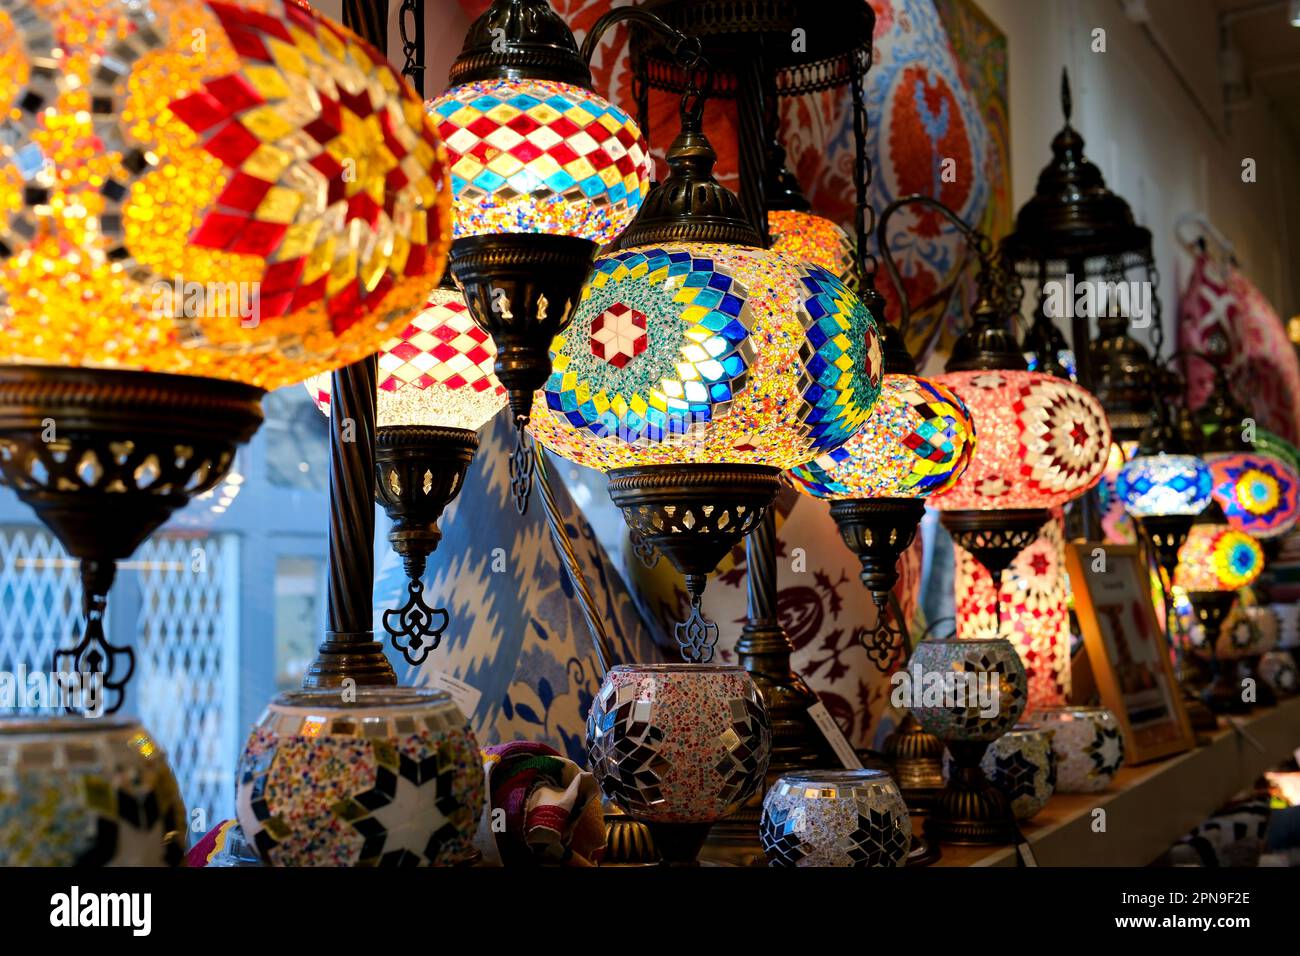
<path fill-rule="evenodd" d="M 1110 425 L 1074 382 L 1022 371 L 945 372 L 935 381 L 970 408 L 979 442 L 957 483 L 931 498 L 942 511 L 1050 509 L 1101 479 Z"/>

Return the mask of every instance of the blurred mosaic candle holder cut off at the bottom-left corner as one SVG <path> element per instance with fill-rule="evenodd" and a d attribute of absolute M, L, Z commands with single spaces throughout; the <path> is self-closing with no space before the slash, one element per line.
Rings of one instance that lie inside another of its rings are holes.
<path fill-rule="evenodd" d="M 0 721 L 0 866 L 177 866 L 181 791 L 134 721 Z"/>

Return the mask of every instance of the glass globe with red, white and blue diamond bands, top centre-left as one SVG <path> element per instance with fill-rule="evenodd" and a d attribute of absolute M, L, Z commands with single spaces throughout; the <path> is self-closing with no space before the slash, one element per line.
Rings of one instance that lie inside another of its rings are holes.
<path fill-rule="evenodd" d="M 455 235 L 546 233 L 608 242 L 650 190 L 636 122 L 590 90 L 488 79 L 429 104 L 447 144 Z"/>

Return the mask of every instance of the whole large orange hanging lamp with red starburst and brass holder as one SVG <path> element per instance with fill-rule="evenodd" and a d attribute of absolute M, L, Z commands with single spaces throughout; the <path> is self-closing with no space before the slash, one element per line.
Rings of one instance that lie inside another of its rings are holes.
<path fill-rule="evenodd" d="M 116 708 L 116 562 L 220 483 L 264 389 L 424 300 L 443 151 L 378 52 L 278 0 L 5 4 L 0 129 L 0 472 L 81 561 L 61 656 Z"/>

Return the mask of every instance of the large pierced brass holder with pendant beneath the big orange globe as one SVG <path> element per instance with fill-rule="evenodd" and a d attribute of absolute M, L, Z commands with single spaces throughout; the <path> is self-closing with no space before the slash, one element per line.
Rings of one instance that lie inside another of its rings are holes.
<path fill-rule="evenodd" d="M 217 485 L 261 424 L 263 390 L 153 372 L 0 367 L 0 475 L 81 562 L 86 630 L 55 670 L 100 672 L 126 700 L 130 648 L 108 643 L 117 562 Z"/>

